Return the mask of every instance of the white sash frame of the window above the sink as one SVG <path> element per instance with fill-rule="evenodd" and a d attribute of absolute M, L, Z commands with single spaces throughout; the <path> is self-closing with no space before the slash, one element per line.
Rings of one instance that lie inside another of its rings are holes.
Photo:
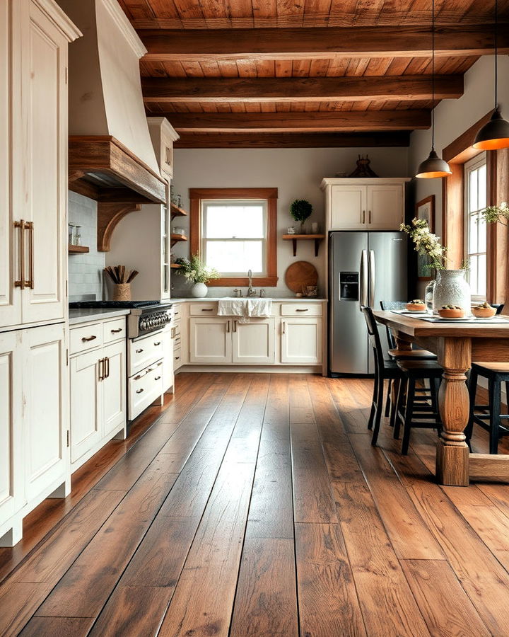
<path fill-rule="evenodd" d="M 207 206 L 228 206 L 228 205 L 242 205 L 246 207 L 259 207 L 262 206 L 263 209 L 263 236 L 259 237 L 241 237 L 241 236 L 223 236 L 223 237 L 214 237 L 213 239 L 209 239 L 206 237 L 206 214 L 207 214 Z M 203 255 L 203 262 L 207 263 L 207 243 L 213 241 L 221 241 L 224 243 L 225 241 L 262 241 L 262 264 L 263 270 L 253 270 L 253 277 L 267 277 L 268 263 L 267 263 L 267 239 L 269 234 L 269 202 L 267 199 L 203 199 L 201 200 L 201 211 L 200 211 L 200 222 L 201 222 L 201 254 Z M 245 277 L 245 271 L 228 271 L 228 272 L 219 272 L 221 278 L 230 278 L 230 277 Z"/>

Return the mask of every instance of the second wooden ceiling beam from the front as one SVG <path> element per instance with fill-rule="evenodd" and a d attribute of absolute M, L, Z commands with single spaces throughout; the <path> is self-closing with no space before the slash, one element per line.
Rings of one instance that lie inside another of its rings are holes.
<path fill-rule="evenodd" d="M 431 99 L 431 76 L 141 79 L 145 103 Z M 435 77 L 435 98 L 463 95 L 462 75 Z"/>

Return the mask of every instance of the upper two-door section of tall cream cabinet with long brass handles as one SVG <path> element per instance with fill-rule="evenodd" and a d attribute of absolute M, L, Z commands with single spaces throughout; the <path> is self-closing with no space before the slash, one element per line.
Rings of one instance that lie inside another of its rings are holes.
<path fill-rule="evenodd" d="M 0 0 L 0 328 L 66 316 L 67 45 L 79 35 L 52 0 Z"/>

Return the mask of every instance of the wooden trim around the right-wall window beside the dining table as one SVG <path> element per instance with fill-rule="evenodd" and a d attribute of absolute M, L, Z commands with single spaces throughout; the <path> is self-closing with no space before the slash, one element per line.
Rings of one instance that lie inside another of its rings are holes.
<path fill-rule="evenodd" d="M 464 256 L 464 163 L 483 152 L 472 148 L 472 144 L 479 128 L 491 119 L 491 113 L 486 113 L 442 152 L 443 159 L 452 170 L 452 175 L 442 180 L 442 240 L 449 248 L 452 268 L 460 268 Z M 508 149 L 486 151 L 488 205 L 508 200 L 508 156 Z M 486 298 L 491 303 L 503 303 L 509 299 L 508 246 L 507 226 L 490 224 L 487 232 Z"/>

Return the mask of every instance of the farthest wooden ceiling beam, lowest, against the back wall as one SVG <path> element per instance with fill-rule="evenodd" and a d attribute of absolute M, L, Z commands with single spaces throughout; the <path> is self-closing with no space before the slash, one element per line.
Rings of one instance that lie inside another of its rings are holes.
<path fill-rule="evenodd" d="M 408 147 L 409 131 L 373 133 L 182 134 L 175 148 L 373 148 Z"/>

